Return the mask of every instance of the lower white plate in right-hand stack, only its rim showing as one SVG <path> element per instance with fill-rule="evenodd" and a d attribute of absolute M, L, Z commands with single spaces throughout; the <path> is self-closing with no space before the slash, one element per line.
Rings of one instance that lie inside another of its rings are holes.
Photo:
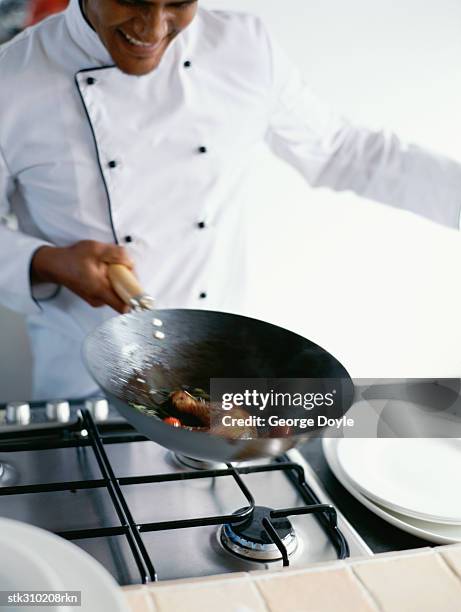
<path fill-rule="evenodd" d="M 434 542 L 435 544 L 457 544 L 461 542 L 461 526 L 459 525 L 437 524 L 402 516 L 397 512 L 393 512 L 375 504 L 358 491 L 344 473 L 338 461 L 337 447 L 339 442 L 339 439 L 324 438 L 322 441 L 323 452 L 325 453 L 325 458 L 333 474 L 355 499 L 371 510 L 371 512 L 391 525 L 394 525 L 394 527 L 398 527 L 402 529 L 402 531 L 411 533 L 418 538 Z"/>

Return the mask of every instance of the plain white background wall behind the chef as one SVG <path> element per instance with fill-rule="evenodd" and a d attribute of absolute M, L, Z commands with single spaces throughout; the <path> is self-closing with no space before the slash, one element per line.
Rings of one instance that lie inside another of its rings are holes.
<path fill-rule="evenodd" d="M 461 161 L 459 0 L 203 4 L 263 16 L 343 114 Z M 263 318 L 318 342 L 355 377 L 461 376 L 458 232 L 310 190 L 268 154 L 254 182 L 251 266 Z M 0 310 L 0 338 L 0 401 L 27 399 L 21 317 Z"/>

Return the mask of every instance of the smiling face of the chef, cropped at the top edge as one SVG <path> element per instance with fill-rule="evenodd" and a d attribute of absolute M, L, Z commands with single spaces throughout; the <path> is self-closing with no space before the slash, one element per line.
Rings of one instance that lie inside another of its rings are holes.
<path fill-rule="evenodd" d="M 197 0 L 84 0 L 83 9 L 118 68 L 141 76 L 192 22 Z"/>

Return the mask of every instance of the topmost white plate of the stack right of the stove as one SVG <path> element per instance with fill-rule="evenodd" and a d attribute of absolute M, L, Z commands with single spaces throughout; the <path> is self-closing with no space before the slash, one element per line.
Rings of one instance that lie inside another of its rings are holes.
<path fill-rule="evenodd" d="M 338 460 L 363 495 L 423 521 L 461 525 L 461 440 L 341 439 Z"/>

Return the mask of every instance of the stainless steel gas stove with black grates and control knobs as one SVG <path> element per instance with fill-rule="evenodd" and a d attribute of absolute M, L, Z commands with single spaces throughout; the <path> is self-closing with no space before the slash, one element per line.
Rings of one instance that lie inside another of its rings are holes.
<path fill-rule="evenodd" d="M 372 554 L 297 450 L 176 456 L 104 398 L 0 409 L 0 516 L 73 541 L 121 585 Z"/>

